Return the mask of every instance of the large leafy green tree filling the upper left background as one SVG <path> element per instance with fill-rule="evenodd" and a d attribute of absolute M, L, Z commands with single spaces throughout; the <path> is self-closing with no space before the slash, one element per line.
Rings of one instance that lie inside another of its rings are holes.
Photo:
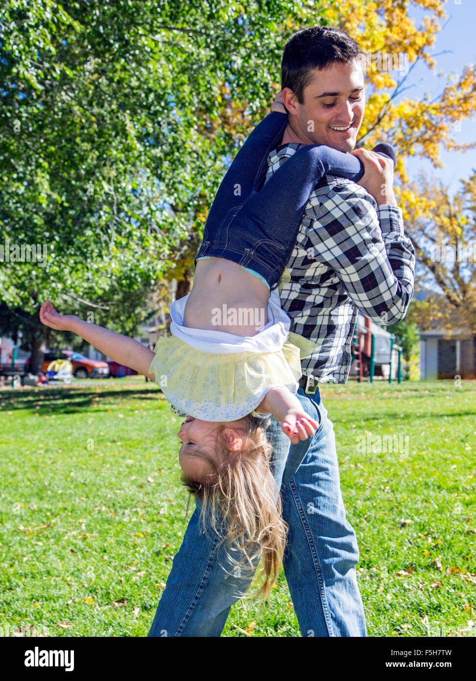
<path fill-rule="evenodd" d="M 50 298 L 72 301 L 65 312 L 113 308 L 108 326 L 124 332 L 118 308 L 135 300 L 137 319 L 147 287 L 191 266 L 184 246 L 198 246 L 236 153 L 220 126 L 230 100 L 249 109 L 239 137 L 269 106 L 276 33 L 311 16 L 283 0 L 1 8 L 1 236 L 5 251 L 46 248 L 41 264 L 12 252 L 1 269 L 11 328 L 28 313 L 42 347 L 37 312 Z"/>

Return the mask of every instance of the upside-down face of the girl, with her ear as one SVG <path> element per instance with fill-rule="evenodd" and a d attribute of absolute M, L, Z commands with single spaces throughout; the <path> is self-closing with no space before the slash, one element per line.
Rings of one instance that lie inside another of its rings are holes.
<path fill-rule="evenodd" d="M 235 428 L 238 423 L 238 421 L 233 421 L 223 424 L 227 426 L 225 439 L 229 449 L 236 450 L 242 447 L 242 437 Z M 185 475 L 191 479 L 200 481 L 206 475 L 213 473 L 211 464 L 199 456 L 200 452 L 212 456 L 217 465 L 220 463 L 217 452 L 217 426 L 220 425 L 222 424 L 187 416 L 180 426 L 177 435 L 182 441 L 182 446 L 178 452 L 178 461 Z"/>

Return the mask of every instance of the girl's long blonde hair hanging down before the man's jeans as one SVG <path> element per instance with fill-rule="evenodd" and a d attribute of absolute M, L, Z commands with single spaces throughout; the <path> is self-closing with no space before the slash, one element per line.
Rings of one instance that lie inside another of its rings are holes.
<path fill-rule="evenodd" d="M 238 452 L 229 449 L 224 437 L 227 426 L 219 424 L 216 432 L 223 454 L 218 459 L 221 463 L 217 464 L 211 454 L 197 453 L 210 464 L 212 473 L 204 481 L 195 481 L 182 472 L 180 480 L 190 494 L 202 500 L 200 518 L 204 531 L 207 513 L 217 534 L 222 523 L 227 528 L 217 549 L 224 541 L 227 548 L 238 549 L 243 557 L 236 563 L 228 556 L 232 562 L 241 566 L 246 560 L 253 574 L 257 567 L 255 560 L 262 550 L 264 567 L 259 578 L 264 577 L 264 583 L 257 592 L 246 597 L 264 600 L 278 578 L 289 526 L 281 516 L 281 495 L 270 470 L 272 445 L 266 439 L 268 420 L 250 414 L 242 422 L 246 445 L 243 449 Z"/>

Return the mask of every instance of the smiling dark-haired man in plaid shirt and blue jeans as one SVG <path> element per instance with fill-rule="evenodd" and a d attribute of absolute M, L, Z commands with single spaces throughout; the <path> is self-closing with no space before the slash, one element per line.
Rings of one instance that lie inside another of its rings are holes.
<path fill-rule="evenodd" d="M 266 180 L 301 144 L 353 149 L 365 109 L 364 68 L 363 53 L 342 31 L 313 27 L 291 38 L 281 64 L 289 124 L 268 157 Z M 280 291 L 291 331 L 319 347 L 302 361 L 298 392 L 319 429 L 291 447 L 274 419 L 268 430 L 289 525 L 283 567 L 303 636 L 367 633 L 334 430 L 315 384 L 347 381 L 358 309 L 396 323 L 413 294 L 415 256 L 392 189 L 392 162 L 363 149 L 353 153 L 364 163 L 362 180 L 324 176 L 316 185 Z M 220 537 L 202 533 L 196 503 L 149 636 L 219 636 L 229 607 L 251 582 L 234 571 L 223 547 L 217 555 Z"/>

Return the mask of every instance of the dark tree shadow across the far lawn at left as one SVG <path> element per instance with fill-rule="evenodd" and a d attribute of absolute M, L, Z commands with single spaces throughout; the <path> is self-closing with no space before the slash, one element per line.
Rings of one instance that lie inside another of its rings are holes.
<path fill-rule="evenodd" d="M 35 413 L 77 413 L 85 411 L 93 405 L 99 405 L 102 401 L 108 402 L 114 398 L 157 400 L 158 395 L 163 395 L 159 387 L 124 387 L 112 389 L 110 386 L 81 387 L 31 387 L 18 388 L 16 390 L 0 390 L 0 412 L 25 410 Z M 105 411 L 104 409 L 95 411 Z"/>

